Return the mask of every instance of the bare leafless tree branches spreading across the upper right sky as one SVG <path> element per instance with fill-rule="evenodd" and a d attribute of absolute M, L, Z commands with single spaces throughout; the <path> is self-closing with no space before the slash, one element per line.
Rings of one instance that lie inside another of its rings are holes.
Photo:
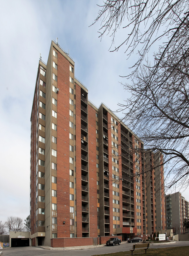
<path fill-rule="evenodd" d="M 125 32 L 112 51 L 125 47 L 128 57 L 138 52 L 138 61 L 125 75 L 131 80 L 124 85 L 131 98 L 118 111 L 124 111 L 124 121 L 145 149 L 164 154 L 167 187 L 188 186 L 189 1 L 109 0 L 100 6 L 95 22 L 99 20 L 100 37 L 112 36 L 110 48 L 116 31 L 122 27 Z M 156 52 L 150 56 L 152 47 Z"/>

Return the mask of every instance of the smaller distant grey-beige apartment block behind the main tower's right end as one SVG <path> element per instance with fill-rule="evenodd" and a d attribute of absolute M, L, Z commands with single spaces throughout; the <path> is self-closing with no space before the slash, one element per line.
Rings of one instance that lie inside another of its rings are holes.
<path fill-rule="evenodd" d="M 180 192 L 165 195 L 167 229 L 173 229 L 174 234 L 184 234 L 183 222 L 189 220 L 189 202 Z"/>

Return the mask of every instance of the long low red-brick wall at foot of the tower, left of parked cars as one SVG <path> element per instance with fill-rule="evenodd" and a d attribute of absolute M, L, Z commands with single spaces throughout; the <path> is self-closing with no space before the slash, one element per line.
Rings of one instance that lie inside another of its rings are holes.
<path fill-rule="evenodd" d="M 78 237 L 78 238 L 52 238 L 51 247 L 73 247 L 93 245 L 92 237 Z"/>

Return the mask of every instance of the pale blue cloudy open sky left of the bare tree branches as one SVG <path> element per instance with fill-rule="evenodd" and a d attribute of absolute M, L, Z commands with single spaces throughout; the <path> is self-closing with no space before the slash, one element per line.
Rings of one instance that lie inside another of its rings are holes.
<path fill-rule="evenodd" d="M 97 107 L 118 109 L 128 93 L 119 75 L 129 73 L 135 58 L 124 49 L 110 53 L 111 38 L 102 41 L 95 20 L 101 0 L 0 1 L 1 183 L 0 221 L 29 215 L 30 115 L 41 53 L 47 63 L 51 40 L 75 61 L 75 76 L 88 88 Z M 119 33 L 117 40 L 124 35 Z M 101 93 L 96 92 L 100 90 Z M 120 116 L 121 114 L 117 114 Z M 187 198 L 187 192 L 183 192 Z"/>

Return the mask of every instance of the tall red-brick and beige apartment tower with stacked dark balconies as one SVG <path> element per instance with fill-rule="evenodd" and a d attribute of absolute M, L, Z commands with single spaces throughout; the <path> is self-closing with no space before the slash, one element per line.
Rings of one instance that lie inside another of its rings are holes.
<path fill-rule="evenodd" d="M 32 244 L 165 229 L 162 156 L 141 149 L 108 107 L 88 100 L 73 59 L 52 41 L 31 112 Z"/>

